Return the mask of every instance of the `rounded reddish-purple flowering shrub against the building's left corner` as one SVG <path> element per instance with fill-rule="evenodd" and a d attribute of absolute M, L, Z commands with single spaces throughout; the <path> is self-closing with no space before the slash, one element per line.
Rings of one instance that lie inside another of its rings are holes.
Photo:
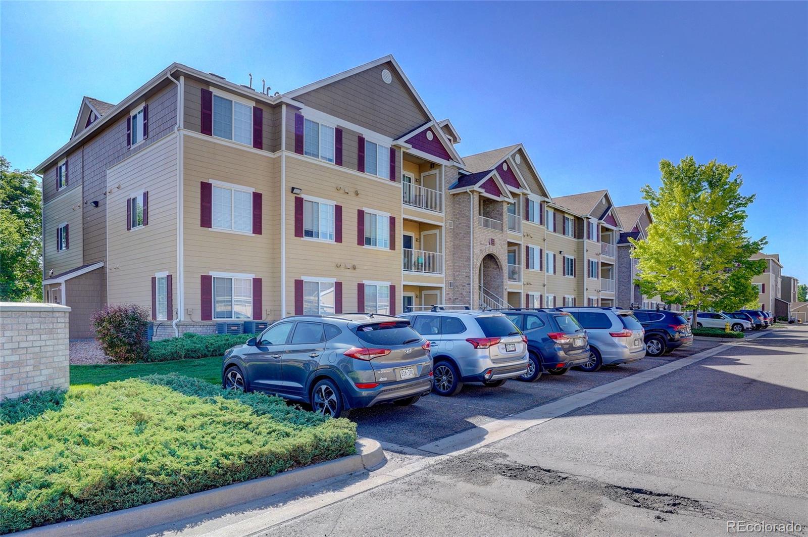
<path fill-rule="evenodd" d="M 137 304 L 107 306 L 93 314 L 95 337 L 114 362 L 143 362 L 149 353 L 149 313 Z"/>

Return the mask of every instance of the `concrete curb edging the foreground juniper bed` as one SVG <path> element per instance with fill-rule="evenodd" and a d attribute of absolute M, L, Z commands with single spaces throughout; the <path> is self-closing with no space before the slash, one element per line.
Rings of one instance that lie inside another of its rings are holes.
<path fill-rule="evenodd" d="M 133 531 L 145 530 L 166 522 L 173 522 L 205 514 L 215 510 L 226 509 L 247 501 L 258 500 L 272 494 L 283 493 L 305 484 L 344 476 L 355 471 L 372 470 L 386 462 L 385 452 L 379 442 L 371 438 L 359 438 L 356 441 L 356 455 L 348 455 L 326 463 L 296 468 L 262 477 L 243 483 L 230 484 L 226 487 L 212 488 L 201 493 L 188 494 L 179 498 L 157 501 L 152 504 L 139 505 L 112 513 L 99 514 L 82 518 L 40 526 L 20 531 L 14 535 L 25 537 L 112 537 Z"/>

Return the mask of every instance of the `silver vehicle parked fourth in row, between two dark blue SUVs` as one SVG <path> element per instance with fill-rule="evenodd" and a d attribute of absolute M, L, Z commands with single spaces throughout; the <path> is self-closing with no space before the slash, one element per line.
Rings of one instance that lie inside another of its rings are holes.
<path fill-rule="evenodd" d="M 587 331 L 589 359 L 578 369 L 597 371 L 601 366 L 618 366 L 646 356 L 645 330 L 630 310 L 597 306 L 555 309 L 574 315 Z"/>

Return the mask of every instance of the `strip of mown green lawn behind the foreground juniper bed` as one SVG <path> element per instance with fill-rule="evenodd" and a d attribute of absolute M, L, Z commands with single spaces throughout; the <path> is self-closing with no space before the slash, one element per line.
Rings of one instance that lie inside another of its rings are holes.
<path fill-rule="evenodd" d="M 168 373 L 178 373 L 186 377 L 201 378 L 208 383 L 219 384 L 221 383 L 221 356 L 141 364 L 70 366 L 70 387 L 98 386 L 113 380 Z"/>

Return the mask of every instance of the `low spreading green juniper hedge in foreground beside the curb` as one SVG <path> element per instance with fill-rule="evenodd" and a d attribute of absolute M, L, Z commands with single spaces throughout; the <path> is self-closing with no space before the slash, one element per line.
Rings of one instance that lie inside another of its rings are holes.
<path fill-rule="evenodd" d="M 281 412 L 276 397 L 234 396 L 182 378 L 151 380 L 69 391 L 61 410 L 0 425 L 0 534 L 355 452 L 351 421 Z"/>

